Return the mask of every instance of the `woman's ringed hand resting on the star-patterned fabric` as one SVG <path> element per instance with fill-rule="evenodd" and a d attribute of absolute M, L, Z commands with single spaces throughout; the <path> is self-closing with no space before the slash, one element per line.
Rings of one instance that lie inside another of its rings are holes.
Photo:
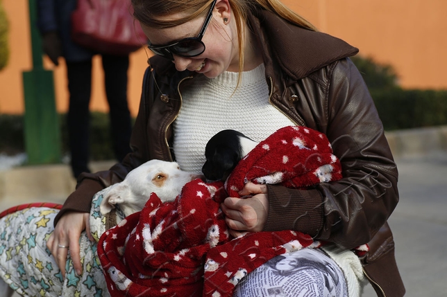
<path fill-rule="evenodd" d="M 56 228 L 54 228 L 53 233 L 47 241 L 47 248 L 53 254 L 64 277 L 68 251 L 70 251 L 76 273 L 78 275 L 82 273 L 79 238 L 84 230 L 87 231 L 90 240 L 94 241 L 90 233 L 90 213 L 66 213 L 59 219 Z"/>

